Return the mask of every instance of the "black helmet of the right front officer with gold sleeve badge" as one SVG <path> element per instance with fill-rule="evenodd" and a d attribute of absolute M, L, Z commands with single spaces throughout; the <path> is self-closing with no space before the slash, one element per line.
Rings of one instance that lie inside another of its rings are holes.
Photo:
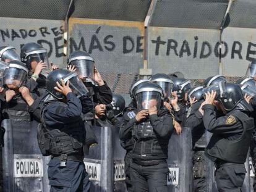
<path fill-rule="evenodd" d="M 244 100 L 244 95 L 239 85 L 221 81 L 219 88 L 220 94 L 216 96 L 216 100 L 221 102 L 226 111 L 232 111 L 237 105 L 239 108 L 251 111 L 252 107 Z"/>

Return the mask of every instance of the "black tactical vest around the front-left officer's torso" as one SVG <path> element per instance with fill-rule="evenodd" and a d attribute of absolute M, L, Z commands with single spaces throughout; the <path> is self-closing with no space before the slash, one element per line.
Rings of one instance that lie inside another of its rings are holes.
<path fill-rule="evenodd" d="M 58 102 L 58 104 L 66 106 L 63 102 Z M 47 107 L 45 107 L 41 114 L 42 123 L 38 127 L 38 144 L 43 156 L 59 156 L 61 154 L 83 155 L 85 125 L 82 119 L 66 125 L 49 127 L 45 125 L 43 120 L 45 110 L 47 110 Z"/>

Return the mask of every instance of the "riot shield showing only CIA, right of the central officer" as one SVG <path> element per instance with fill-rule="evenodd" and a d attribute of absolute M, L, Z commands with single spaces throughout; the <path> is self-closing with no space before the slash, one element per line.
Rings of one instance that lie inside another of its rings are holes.
<path fill-rule="evenodd" d="M 192 191 L 192 136 L 191 128 L 182 128 L 182 134 L 171 136 L 168 146 L 168 191 Z"/>

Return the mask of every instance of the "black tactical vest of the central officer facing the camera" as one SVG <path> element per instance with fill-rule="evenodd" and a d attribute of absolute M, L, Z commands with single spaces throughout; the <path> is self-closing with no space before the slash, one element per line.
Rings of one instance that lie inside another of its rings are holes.
<path fill-rule="evenodd" d="M 165 116 L 165 115 L 164 115 Z M 164 118 L 161 117 L 161 118 Z M 139 155 L 151 154 L 153 156 L 168 158 L 169 140 L 158 138 L 150 121 L 134 125 L 132 136 L 135 140 L 133 152 Z"/>

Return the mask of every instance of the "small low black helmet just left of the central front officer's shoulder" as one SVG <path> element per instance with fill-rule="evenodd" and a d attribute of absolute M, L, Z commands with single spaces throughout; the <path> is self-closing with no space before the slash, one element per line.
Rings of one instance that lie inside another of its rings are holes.
<path fill-rule="evenodd" d="M 113 109 L 114 115 L 117 117 L 118 115 L 121 115 L 124 111 L 124 108 L 126 107 L 126 101 L 121 96 L 121 94 L 113 93 L 113 98 L 110 105 Z"/>

